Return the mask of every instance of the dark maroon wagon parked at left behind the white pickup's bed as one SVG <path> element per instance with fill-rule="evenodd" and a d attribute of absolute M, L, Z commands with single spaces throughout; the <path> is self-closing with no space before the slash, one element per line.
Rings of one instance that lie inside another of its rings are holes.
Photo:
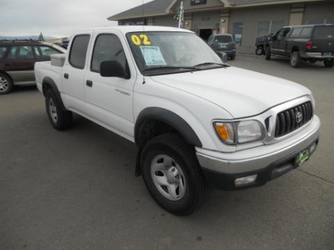
<path fill-rule="evenodd" d="M 34 40 L 0 40 L 0 94 L 11 92 L 14 85 L 33 85 L 35 62 L 48 61 L 65 50 L 54 44 Z"/>

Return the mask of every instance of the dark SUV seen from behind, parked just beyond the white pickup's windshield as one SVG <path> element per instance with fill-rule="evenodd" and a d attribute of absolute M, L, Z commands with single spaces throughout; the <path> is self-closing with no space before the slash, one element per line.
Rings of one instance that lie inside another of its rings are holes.
<path fill-rule="evenodd" d="M 234 60 L 236 50 L 233 36 L 230 34 L 212 34 L 207 40 L 207 44 L 217 53 L 224 52 L 231 60 Z"/>

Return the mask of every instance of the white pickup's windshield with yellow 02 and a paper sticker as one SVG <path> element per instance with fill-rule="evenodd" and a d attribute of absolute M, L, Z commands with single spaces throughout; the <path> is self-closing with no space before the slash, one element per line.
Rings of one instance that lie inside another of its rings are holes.
<path fill-rule="evenodd" d="M 221 58 L 193 33 L 127 33 L 127 40 L 138 68 L 145 75 L 223 67 Z"/>

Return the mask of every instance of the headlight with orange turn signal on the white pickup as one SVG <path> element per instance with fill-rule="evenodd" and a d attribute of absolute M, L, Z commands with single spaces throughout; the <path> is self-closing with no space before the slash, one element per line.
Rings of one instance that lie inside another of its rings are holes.
<path fill-rule="evenodd" d="M 255 120 L 214 122 L 218 137 L 226 144 L 256 142 L 264 138 L 264 126 Z"/>

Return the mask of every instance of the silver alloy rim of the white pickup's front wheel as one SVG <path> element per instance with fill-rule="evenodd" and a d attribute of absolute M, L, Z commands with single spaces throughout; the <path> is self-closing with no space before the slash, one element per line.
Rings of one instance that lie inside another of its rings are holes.
<path fill-rule="evenodd" d="M 158 155 L 151 162 L 151 177 L 155 188 L 170 201 L 179 201 L 186 192 L 186 179 L 181 167 L 170 156 Z"/>

